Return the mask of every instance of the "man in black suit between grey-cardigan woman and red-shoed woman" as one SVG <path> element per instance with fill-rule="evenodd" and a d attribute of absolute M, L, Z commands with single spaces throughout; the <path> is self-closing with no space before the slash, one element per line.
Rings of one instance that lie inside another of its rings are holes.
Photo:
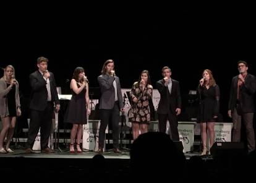
<path fill-rule="evenodd" d="M 48 141 L 54 104 L 56 112 L 60 108 L 59 98 L 54 75 L 47 70 L 48 59 L 46 57 L 38 57 L 37 67 L 38 70 L 30 74 L 32 92 L 30 95 L 30 124 L 26 152 L 33 152 L 33 144 L 40 129 L 41 152 L 51 153 L 53 150 L 48 147 Z"/>

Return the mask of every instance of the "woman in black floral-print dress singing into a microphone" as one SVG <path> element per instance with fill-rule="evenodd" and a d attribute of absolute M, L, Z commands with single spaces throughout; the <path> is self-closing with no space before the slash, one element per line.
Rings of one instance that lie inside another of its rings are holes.
<path fill-rule="evenodd" d="M 143 70 L 140 74 L 139 81 L 132 85 L 130 91 L 130 98 L 132 104 L 129 110 L 129 119 L 132 122 L 132 137 L 134 140 L 141 134 L 148 132 L 148 125 L 150 124 L 149 100 L 152 98 L 153 87 L 151 85 L 150 75 L 148 70 Z"/>

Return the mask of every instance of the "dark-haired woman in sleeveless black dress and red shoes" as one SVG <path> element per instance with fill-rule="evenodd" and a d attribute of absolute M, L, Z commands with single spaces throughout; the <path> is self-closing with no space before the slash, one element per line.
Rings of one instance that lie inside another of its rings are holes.
<path fill-rule="evenodd" d="M 69 109 L 66 113 L 66 122 L 73 124 L 70 133 L 70 153 L 74 153 L 74 142 L 77 137 L 77 153 L 82 153 L 80 141 L 82 138 L 83 124 L 87 124 L 87 114 L 90 114 L 88 80 L 85 77 L 85 71 L 82 67 L 74 70 L 72 80 L 70 82 L 72 90 L 72 98 L 69 103 Z"/>

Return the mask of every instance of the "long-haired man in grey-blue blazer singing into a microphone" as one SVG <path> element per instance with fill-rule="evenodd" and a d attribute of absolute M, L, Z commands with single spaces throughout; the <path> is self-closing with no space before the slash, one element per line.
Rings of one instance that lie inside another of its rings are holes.
<path fill-rule="evenodd" d="M 107 60 L 102 67 L 101 75 L 98 77 L 100 84 L 100 132 L 98 153 L 103 153 L 105 130 L 111 117 L 113 127 L 114 153 L 121 153 L 119 150 L 119 111 L 124 111 L 122 93 L 119 78 L 114 72 L 114 61 Z"/>

